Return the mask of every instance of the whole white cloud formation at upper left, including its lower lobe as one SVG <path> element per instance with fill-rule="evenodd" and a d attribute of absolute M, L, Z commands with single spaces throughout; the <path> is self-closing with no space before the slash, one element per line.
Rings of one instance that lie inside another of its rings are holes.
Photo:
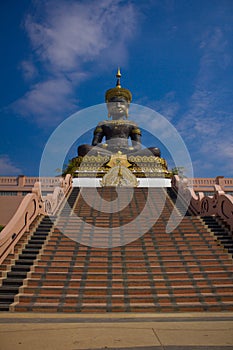
<path fill-rule="evenodd" d="M 81 81 L 126 60 L 137 13 L 130 2 L 120 0 L 34 4 L 34 14 L 24 22 L 33 56 L 21 66 L 26 79 L 35 77 L 36 67 L 48 78 L 30 86 L 12 107 L 41 126 L 55 125 L 77 110 L 74 96 Z"/>

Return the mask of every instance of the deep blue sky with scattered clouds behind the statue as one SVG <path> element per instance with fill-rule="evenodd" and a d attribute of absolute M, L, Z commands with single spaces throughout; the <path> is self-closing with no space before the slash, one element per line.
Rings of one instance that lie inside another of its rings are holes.
<path fill-rule="evenodd" d="M 8 0 L 0 16 L 0 175 L 38 176 L 51 133 L 103 103 L 119 65 L 133 102 L 180 133 L 195 177 L 233 176 L 232 0 Z"/>

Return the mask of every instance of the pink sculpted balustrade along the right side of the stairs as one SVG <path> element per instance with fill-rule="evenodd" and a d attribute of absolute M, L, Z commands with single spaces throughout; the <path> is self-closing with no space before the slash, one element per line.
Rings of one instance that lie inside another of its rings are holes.
<path fill-rule="evenodd" d="M 233 196 L 226 194 L 220 185 L 213 185 L 213 196 L 204 195 L 203 192 L 195 193 L 189 187 L 188 179 L 182 179 L 178 175 L 172 177 L 172 187 L 187 202 L 196 215 L 221 217 L 233 232 Z"/>

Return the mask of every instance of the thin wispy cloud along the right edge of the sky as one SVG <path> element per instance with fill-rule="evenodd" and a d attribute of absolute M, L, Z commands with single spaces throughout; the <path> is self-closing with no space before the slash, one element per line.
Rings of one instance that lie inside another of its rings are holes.
<path fill-rule="evenodd" d="M 200 172 L 217 169 L 228 176 L 233 163 L 232 88 L 227 85 L 232 69 L 231 34 L 224 27 L 211 27 L 203 33 L 194 91 L 177 124 L 191 150 L 194 166 Z"/>

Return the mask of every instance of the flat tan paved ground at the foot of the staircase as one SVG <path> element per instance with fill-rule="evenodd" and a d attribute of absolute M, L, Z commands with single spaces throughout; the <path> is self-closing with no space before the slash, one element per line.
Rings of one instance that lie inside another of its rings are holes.
<path fill-rule="evenodd" d="M 233 313 L 0 313 L 0 350 L 232 350 Z"/>

